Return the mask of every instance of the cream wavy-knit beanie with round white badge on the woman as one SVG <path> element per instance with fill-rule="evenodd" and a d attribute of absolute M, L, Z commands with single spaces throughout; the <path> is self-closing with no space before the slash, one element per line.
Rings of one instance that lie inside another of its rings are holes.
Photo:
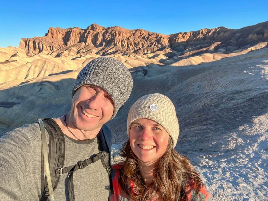
<path fill-rule="evenodd" d="M 148 94 L 138 99 L 129 109 L 127 133 L 133 121 L 146 118 L 160 124 L 172 139 L 173 147 L 176 146 L 179 136 L 179 122 L 176 110 L 170 99 L 163 94 Z"/>

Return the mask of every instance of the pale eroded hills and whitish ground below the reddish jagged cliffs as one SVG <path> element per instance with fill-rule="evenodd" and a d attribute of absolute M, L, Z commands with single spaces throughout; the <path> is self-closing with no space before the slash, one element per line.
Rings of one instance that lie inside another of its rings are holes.
<path fill-rule="evenodd" d="M 108 122 L 113 153 L 127 140 L 129 107 L 141 96 L 159 92 L 176 107 L 180 135 L 175 149 L 189 157 L 213 200 L 267 200 L 266 45 L 173 60 L 158 53 L 109 55 L 132 68 L 134 80 L 129 100 Z M 71 48 L 61 57 L 46 53 L 28 57 L 24 50 L 15 49 L 0 49 L 1 61 L 18 52 L 13 56 L 16 61 L 0 63 L 0 136 L 40 117 L 68 112 L 77 73 L 99 57 L 94 53 L 75 57 Z M 158 61 L 164 58 L 168 65 L 161 66 Z"/>

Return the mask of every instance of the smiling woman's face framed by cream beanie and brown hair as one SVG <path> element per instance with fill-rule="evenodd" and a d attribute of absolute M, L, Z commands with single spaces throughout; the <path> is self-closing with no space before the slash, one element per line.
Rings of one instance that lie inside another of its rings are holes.
<path fill-rule="evenodd" d="M 130 128 L 129 142 L 134 154 L 144 162 L 155 162 L 168 147 L 169 134 L 157 122 L 149 119 L 137 119 Z"/>

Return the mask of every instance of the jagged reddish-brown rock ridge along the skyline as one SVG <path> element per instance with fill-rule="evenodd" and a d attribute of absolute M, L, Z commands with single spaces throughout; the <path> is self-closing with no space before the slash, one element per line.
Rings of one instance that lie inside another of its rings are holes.
<path fill-rule="evenodd" d="M 86 29 L 78 27 L 49 28 L 48 33 L 43 37 L 21 39 L 19 47 L 25 49 L 28 54 L 57 50 L 75 44 L 79 44 L 77 51 L 91 45 L 91 48 L 99 50 L 100 55 L 111 54 L 111 52 L 101 51 L 107 47 L 118 47 L 121 51 L 139 55 L 165 48 L 180 52 L 180 55 L 204 53 L 204 51 L 229 53 L 259 42 L 266 42 L 268 40 L 267 27 L 268 22 L 264 22 L 241 29 L 218 27 L 163 35 L 143 29 L 129 30 L 118 26 L 106 28 L 92 24 Z M 118 51 L 118 49 L 114 51 Z"/>

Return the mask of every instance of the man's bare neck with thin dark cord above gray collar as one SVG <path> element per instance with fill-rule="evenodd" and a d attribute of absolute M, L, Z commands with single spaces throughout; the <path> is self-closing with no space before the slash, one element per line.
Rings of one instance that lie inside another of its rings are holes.
<path fill-rule="evenodd" d="M 65 121 L 68 125 L 66 126 L 66 123 L 64 121 L 64 116 L 56 118 L 56 123 L 61 128 L 62 132 L 67 135 L 68 137 L 75 139 L 75 140 L 88 140 L 95 138 L 99 131 L 83 131 L 78 128 L 72 123 L 70 120 L 70 112 L 66 114 Z"/>

